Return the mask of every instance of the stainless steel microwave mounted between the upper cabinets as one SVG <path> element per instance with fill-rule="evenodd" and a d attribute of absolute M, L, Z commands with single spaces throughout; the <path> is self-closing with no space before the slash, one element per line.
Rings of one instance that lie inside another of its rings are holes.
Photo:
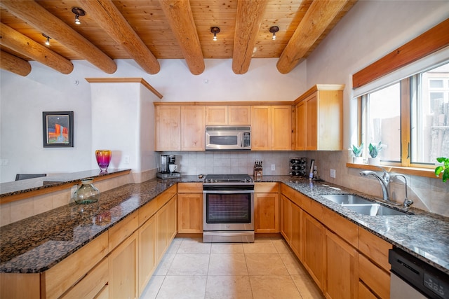
<path fill-rule="evenodd" d="M 206 126 L 206 151 L 250 149 L 251 127 L 234 125 Z"/>

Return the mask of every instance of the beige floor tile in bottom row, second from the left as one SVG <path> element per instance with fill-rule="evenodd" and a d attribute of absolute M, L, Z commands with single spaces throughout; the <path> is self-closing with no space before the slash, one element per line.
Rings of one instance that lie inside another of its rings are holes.
<path fill-rule="evenodd" d="M 166 276 L 156 299 L 198 299 L 206 293 L 207 276 Z"/>

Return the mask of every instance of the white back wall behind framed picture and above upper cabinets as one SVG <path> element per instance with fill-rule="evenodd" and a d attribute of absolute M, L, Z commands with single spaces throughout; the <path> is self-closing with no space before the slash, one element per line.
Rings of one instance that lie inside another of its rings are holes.
<path fill-rule="evenodd" d="M 206 60 L 206 69 L 198 76 L 190 73 L 184 60 L 159 60 L 161 71 L 155 75 L 142 71 L 133 60 L 116 60 L 112 75 L 86 61 L 74 61 L 69 75 L 37 62 L 32 62 L 26 77 L 0 70 L 0 158 L 8 160 L 8 166 L 1 166 L 0 182 L 13 181 L 19 172 L 56 174 L 95 167 L 91 85 L 85 78 L 144 78 L 163 95 L 161 102 L 292 101 L 309 88 L 306 63 L 284 75 L 277 71 L 276 62 L 253 59 L 243 75 L 232 72 L 232 60 Z M 42 111 L 74 111 L 74 148 L 43 148 Z M 149 131 L 142 134 L 152 138 L 153 120 L 146 122 Z M 152 151 L 141 158 L 145 167 L 156 160 Z"/>

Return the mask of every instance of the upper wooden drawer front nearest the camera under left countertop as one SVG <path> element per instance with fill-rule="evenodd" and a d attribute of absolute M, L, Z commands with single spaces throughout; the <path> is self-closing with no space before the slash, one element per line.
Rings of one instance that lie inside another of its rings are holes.
<path fill-rule="evenodd" d="M 58 298 L 108 253 L 107 232 L 42 274 L 43 297 Z"/>

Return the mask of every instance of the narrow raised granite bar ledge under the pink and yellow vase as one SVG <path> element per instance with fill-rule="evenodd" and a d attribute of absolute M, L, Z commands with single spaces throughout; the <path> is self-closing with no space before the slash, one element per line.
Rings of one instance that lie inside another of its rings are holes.
<path fill-rule="evenodd" d="M 95 178 L 98 176 L 109 176 L 121 172 L 129 172 L 131 169 L 107 169 L 107 172 L 101 172 L 100 169 L 86 170 L 84 172 L 72 172 L 68 174 L 57 174 L 53 176 L 41 176 L 34 179 L 25 179 L 21 181 L 8 181 L 0 183 L 0 197 L 7 197 L 21 193 L 27 193 L 34 190 L 41 190 L 55 186 L 61 186 L 66 183 L 77 183 L 81 179 Z"/>

